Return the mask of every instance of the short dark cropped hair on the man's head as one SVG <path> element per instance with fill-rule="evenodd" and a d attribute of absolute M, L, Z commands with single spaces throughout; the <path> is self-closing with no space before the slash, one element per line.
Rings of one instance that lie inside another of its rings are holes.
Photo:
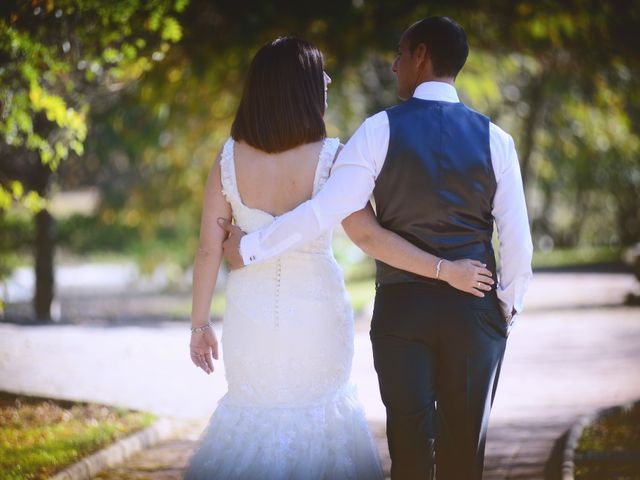
<path fill-rule="evenodd" d="M 411 52 L 424 43 L 431 56 L 433 73 L 439 77 L 456 77 L 467 61 L 469 44 L 463 28 L 449 17 L 427 17 L 405 32 Z"/>

